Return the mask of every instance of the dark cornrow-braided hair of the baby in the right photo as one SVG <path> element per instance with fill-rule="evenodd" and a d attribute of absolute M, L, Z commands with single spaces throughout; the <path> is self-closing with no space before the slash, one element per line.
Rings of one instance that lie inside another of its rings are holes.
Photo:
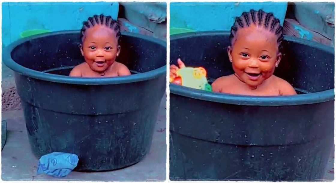
<path fill-rule="evenodd" d="M 251 24 L 262 26 L 267 31 L 274 33 L 277 36 L 279 51 L 282 49 L 281 42 L 284 39 L 282 35 L 282 26 L 280 20 L 273 13 L 266 13 L 263 10 L 255 11 L 251 9 L 249 12 L 243 12 L 240 17 L 236 17 L 235 23 L 231 27 L 230 43 L 233 45 L 233 40 L 237 35 L 239 28 L 249 27 Z"/>

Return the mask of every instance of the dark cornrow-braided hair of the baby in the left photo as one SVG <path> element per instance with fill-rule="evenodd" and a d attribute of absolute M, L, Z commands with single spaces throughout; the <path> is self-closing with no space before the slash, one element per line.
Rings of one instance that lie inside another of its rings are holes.
<path fill-rule="evenodd" d="M 83 22 L 83 27 L 81 29 L 81 33 L 80 33 L 80 39 L 82 40 L 82 42 L 84 41 L 84 35 L 85 35 L 85 31 L 90 28 L 93 27 L 95 25 L 105 25 L 109 28 L 111 28 L 113 31 L 116 32 L 116 37 L 118 40 L 118 45 L 120 44 L 120 26 L 117 20 L 113 19 L 111 16 L 104 16 L 103 14 L 98 15 L 93 15 L 93 17 L 89 17 L 87 19 L 87 21 Z"/>

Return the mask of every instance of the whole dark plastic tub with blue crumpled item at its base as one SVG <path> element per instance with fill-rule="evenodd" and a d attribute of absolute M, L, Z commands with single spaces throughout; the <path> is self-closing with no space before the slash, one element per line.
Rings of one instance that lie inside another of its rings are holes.
<path fill-rule="evenodd" d="M 31 148 L 37 158 L 53 151 L 79 157 L 77 171 L 104 171 L 142 160 L 152 143 L 166 81 L 166 44 L 123 33 L 117 58 L 130 76 L 68 76 L 84 61 L 79 31 L 19 40 L 3 52 L 15 71 Z"/>

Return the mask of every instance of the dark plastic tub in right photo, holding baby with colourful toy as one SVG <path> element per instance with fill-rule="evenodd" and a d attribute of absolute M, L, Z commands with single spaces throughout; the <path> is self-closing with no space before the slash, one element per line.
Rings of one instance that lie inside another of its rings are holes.
<path fill-rule="evenodd" d="M 229 32 L 171 36 L 170 63 L 234 73 Z M 297 96 L 254 97 L 170 84 L 171 180 L 322 179 L 334 145 L 334 49 L 285 37 L 275 75 Z"/>

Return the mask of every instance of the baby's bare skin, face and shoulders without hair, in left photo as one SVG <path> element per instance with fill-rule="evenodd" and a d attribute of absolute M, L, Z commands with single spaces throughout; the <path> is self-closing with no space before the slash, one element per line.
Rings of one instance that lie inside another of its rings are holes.
<path fill-rule="evenodd" d="M 74 67 L 70 76 L 115 77 L 131 74 L 124 64 L 116 61 L 120 46 L 115 31 L 109 27 L 95 25 L 88 28 L 80 51 L 85 62 Z"/>

